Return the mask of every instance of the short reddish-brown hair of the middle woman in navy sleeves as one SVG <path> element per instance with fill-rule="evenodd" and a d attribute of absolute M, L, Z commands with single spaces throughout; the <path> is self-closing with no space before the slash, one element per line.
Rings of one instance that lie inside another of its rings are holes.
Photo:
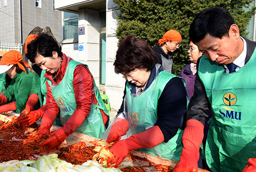
<path fill-rule="evenodd" d="M 116 73 L 127 73 L 136 68 L 151 70 L 155 66 L 155 53 L 145 40 L 127 35 L 119 44 L 114 66 Z"/>

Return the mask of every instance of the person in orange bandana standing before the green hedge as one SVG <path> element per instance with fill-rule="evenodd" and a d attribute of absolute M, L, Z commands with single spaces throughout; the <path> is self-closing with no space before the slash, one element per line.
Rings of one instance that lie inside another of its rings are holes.
<path fill-rule="evenodd" d="M 173 66 L 173 52 L 175 52 L 181 45 L 181 34 L 176 30 L 169 30 L 163 38 L 158 40 L 156 46 L 153 47 L 155 52 L 155 62 L 160 64 L 161 67 L 169 72 L 175 73 Z"/>

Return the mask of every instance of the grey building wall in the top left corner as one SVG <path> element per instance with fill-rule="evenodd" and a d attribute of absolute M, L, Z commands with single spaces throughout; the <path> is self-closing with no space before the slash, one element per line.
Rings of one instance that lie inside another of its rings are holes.
<path fill-rule="evenodd" d="M 20 41 L 20 21 L 19 21 L 19 0 L 1 1 L 0 12 L 0 37 L 1 42 L 21 43 Z M 57 41 L 62 39 L 61 12 L 53 10 L 52 0 L 41 0 L 41 8 L 35 7 L 35 1 L 22 1 L 23 18 L 23 42 L 30 31 L 38 26 L 42 29 L 49 26 Z"/>

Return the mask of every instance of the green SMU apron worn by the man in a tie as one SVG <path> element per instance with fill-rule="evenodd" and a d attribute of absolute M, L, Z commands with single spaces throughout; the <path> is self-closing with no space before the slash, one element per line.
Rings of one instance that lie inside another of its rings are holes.
<path fill-rule="evenodd" d="M 211 120 L 205 156 L 212 171 L 242 171 L 256 155 L 256 51 L 234 73 L 203 56 L 199 77 L 211 104 Z"/>

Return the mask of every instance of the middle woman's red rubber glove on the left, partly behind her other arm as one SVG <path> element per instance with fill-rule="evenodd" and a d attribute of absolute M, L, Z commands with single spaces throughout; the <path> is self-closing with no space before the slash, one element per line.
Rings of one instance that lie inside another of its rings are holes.
<path fill-rule="evenodd" d="M 124 118 L 116 118 L 114 125 L 111 127 L 110 133 L 106 142 L 116 142 L 121 139 L 121 137 L 127 132 L 129 129 L 129 124 Z"/>

